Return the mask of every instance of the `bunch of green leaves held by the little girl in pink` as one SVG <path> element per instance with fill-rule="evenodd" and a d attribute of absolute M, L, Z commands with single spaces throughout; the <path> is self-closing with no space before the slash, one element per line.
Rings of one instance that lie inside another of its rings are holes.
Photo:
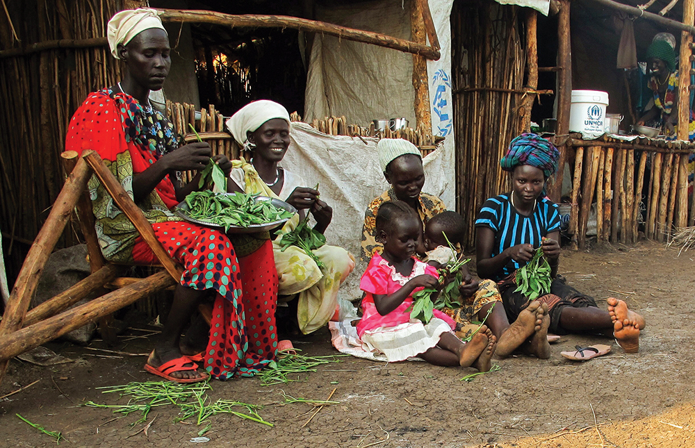
<path fill-rule="evenodd" d="M 446 234 L 444 234 L 444 238 L 446 238 Z M 450 249 L 456 254 L 456 249 L 448 238 L 446 238 L 446 242 L 448 242 Z M 459 269 L 469 261 L 471 261 L 471 258 L 464 259 L 463 254 L 461 254 L 456 260 L 451 260 L 445 267 L 438 269 L 438 287 L 424 288 L 413 294 L 413 304 L 408 308 L 408 310 L 410 310 L 410 318 L 418 319 L 427 324 L 427 322 L 432 320 L 434 308 L 438 310 L 442 308 L 460 308 L 462 305 L 459 297 L 459 285 L 461 285 L 461 281 L 463 281 L 463 276 L 461 276 Z M 432 301 L 432 294 L 437 292 L 439 286 L 443 285 L 446 278 L 452 274 L 454 275 L 454 279 L 445 285 L 439 297 L 437 297 L 435 304 L 434 301 Z"/>

